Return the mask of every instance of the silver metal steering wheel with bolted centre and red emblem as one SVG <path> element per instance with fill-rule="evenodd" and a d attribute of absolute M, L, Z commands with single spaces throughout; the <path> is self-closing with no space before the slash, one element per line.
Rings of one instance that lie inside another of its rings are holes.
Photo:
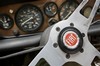
<path fill-rule="evenodd" d="M 88 0 L 83 0 L 68 19 L 47 28 L 40 41 L 45 47 L 29 66 L 38 66 L 41 59 L 45 59 L 48 66 L 64 66 L 67 62 L 91 66 L 93 59 L 96 56 L 100 57 L 100 52 L 93 47 L 87 36 L 100 0 L 95 1 L 89 18 L 80 14 L 80 10 L 87 2 Z"/>

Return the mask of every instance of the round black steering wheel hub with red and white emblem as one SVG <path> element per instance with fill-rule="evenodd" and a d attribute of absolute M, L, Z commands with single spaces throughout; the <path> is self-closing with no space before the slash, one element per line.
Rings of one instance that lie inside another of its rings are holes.
<path fill-rule="evenodd" d="M 82 49 L 83 36 L 75 27 L 66 27 L 59 34 L 58 44 L 62 51 L 74 54 Z"/>

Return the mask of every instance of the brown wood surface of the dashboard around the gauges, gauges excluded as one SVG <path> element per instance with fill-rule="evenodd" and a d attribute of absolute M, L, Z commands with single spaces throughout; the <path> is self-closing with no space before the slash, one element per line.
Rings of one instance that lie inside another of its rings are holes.
<path fill-rule="evenodd" d="M 40 9 L 41 9 L 41 11 L 42 11 L 42 13 L 43 13 L 43 16 L 44 16 L 44 23 L 43 23 L 43 25 L 40 27 L 40 29 L 38 30 L 38 31 L 36 31 L 36 32 L 41 32 L 41 31 L 44 31 L 48 26 L 49 26 L 49 24 L 48 24 L 48 20 L 50 19 L 50 18 L 48 18 L 45 14 L 44 14 L 44 12 L 43 12 L 43 7 L 44 7 L 44 5 L 47 3 L 47 2 L 55 2 L 57 5 L 58 5 L 58 7 L 60 7 L 60 5 L 65 1 L 65 0 L 37 0 L 37 1 L 33 1 L 33 2 L 25 2 L 25 3 L 17 3 L 17 4 L 11 4 L 11 5 L 6 5 L 6 6 L 2 6 L 2 7 L 0 7 L 0 13 L 6 13 L 6 14 L 8 14 L 8 15 L 10 15 L 12 18 L 13 18 L 13 20 L 14 20 L 14 26 L 11 28 L 11 29 L 9 29 L 9 30 L 3 30 L 3 29 L 1 29 L 0 28 L 0 35 L 3 35 L 3 36 L 11 36 L 11 35 L 14 35 L 13 34 L 13 32 L 14 31 L 19 31 L 19 33 L 20 34 L 27 34 L 26 32 L 23 32 L 23 31 L 21 31 L 18 27 L 17 27 L 17 25 L 15 24 L 15 14 L 16 14 L 16 11 L 22 6 L 22 5 L 24 5 L 24 4 L 33 4 L 33 5 L 36 5 L 36 6 L 38 6 Z M 78 2 L 80 2 L 79 0 L 78 0 Z M 91 4 L 91 3 L 90 3 Z M 10 11 L 12 11 L 13 10 L 13 13 L 10 13 Z M 96 19 L 100 19 L 99 18 L 100 16 L 97 16 L 97 18 Z M 55 19 L 57 19 L 58 21 L 59 21 L 59 19 L 58 19 L 58 14 L 56 15 L 56 16 L 54 16 L 53 18 L 55 18 Z M 34 32 L 35 33 L 35 32 Z"/>

